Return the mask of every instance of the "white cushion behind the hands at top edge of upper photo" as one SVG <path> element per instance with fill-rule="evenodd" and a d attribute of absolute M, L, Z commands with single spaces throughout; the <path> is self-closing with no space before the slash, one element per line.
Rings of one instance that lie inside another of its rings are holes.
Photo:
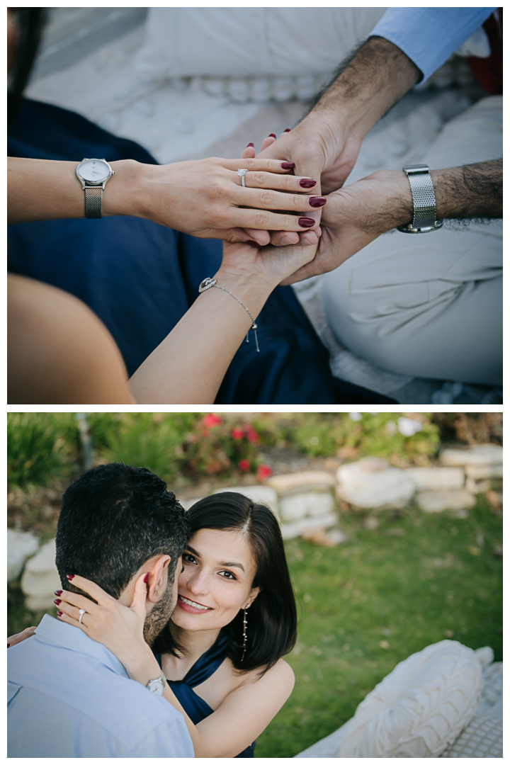
<path fill-rule="evenodd" d="M 386 8 L 150 8 L 138 68 L 166 77 L 312 76 L 335 69 Z"/>

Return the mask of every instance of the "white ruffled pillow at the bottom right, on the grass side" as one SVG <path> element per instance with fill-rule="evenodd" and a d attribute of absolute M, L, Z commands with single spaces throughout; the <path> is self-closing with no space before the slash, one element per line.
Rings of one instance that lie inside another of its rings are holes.
<path fill-rule="evenodd" d="M 440 757 L 475 714 L 476 653 L 442 640 L 400 662 L 343 728 L 338 757 Z"/>

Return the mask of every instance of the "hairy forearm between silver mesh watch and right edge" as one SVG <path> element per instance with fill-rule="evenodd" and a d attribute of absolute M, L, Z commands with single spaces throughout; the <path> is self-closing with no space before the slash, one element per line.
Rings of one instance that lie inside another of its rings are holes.
<path fill-rule="evenodd" d="M 503 160 L 430 171 L 437 218 L 484 220 L 503 215 Z"/>

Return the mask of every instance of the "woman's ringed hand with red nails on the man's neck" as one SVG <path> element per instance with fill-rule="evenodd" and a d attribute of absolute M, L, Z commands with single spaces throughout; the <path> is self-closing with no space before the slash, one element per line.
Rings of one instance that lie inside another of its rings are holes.
<path fill-rule="evenodd" d="M 54 603 L 59 609 L 57 615 L 60 621 L 78 627 L 92 640 L 106 646 L 125 666 L 130 676 L 140 662 L 147 660 L 149 655 L 154 662 L 156 661 L 144 640 L 144 623 L 147 615 L 145 610 L 146 576 L 142 574 L 138 578 L 130 607 L 123 606 L 114 597 L 106 594 L 98 584 L 81 576 L 74 576 L 73 584 L 93 597 L 97 603 L 74 592 L 55 591 L 57 598 Z M 81 623 L 80 608 L 85 611 Z"/>

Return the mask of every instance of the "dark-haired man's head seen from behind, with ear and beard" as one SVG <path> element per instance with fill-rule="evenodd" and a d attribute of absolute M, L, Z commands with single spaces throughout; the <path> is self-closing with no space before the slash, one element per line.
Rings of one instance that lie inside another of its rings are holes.
<path fill-rule="evenodd" d="M 118 463 L 87 470 L 62 497 L 56 563 L 63 588 L 75 590 L 67 575 L 78 574 L 119 600 L 151 562 L 145 623 L 151 643 L 171 616 L 187 535 L 184 509 L 150 470 Z"/>

